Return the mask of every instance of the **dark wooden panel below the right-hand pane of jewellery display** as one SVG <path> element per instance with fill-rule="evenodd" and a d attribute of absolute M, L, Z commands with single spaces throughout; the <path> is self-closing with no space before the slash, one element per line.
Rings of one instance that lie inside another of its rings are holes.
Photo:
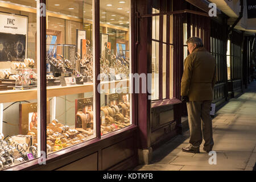
<path fill-rule="evenodd" d="M 134 155 L 134 140 L 128 138 L 102 150 L 102 170 L 106 170 Z"/>

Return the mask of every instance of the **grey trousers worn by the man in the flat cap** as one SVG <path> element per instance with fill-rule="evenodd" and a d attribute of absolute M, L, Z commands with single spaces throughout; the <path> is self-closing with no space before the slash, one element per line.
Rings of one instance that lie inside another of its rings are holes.
<path fill-rule="evenodd" d="M 213 134 L 212 134 L 212 118 L 210 118 L 211 101 L 189 101 L 188 124 L 190 130 L 189 143 L 193 147 L 199 147 L 204 138 L 205 150 L 212 150 Z M 203 130 L 203 136 L 202 136 Z"/>

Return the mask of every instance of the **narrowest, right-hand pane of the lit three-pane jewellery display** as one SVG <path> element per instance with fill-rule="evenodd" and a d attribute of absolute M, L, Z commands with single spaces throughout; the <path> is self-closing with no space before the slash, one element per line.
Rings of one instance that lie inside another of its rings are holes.
<path fill-rule="evenodd" d="M 101 135 L 131 125 L 130 0 L 100 1 Z"/>

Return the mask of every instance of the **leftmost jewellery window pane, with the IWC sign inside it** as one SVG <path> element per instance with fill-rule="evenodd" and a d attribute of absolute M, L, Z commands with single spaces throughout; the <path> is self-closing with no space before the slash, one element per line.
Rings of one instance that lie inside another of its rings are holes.
<path fill-rule="evenodd" d="M 0 170 L 39 156 L 36 14 L 31 6 L 36 2 L 0 5 Z"/>

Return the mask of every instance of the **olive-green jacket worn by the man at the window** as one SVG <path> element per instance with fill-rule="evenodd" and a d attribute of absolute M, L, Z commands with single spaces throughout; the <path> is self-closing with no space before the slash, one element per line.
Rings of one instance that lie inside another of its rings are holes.
<path fill-rule="evenodd" d="M 184 64 L 181 96 L 188 96 L 189 101 L 213 100 L 213 88 L 216 82 L 214 57 L 204 47 L 199 47 L 188 55 Z"/>

